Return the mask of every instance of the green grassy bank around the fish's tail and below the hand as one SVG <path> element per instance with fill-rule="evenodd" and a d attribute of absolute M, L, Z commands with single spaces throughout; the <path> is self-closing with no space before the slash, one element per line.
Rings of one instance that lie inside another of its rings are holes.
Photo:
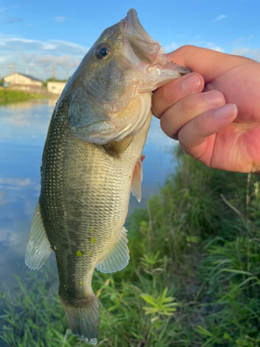
<path fill-rule="evenodd" d="M 257 347 L 260 344 L 259 177 L 208 169 L 175 153 L 161 196 L 128 219 L 131 260 L 96 271 L 104 347 Z M 6 346 L 88 346 L 69 333 L 53 274 L 1 299 Z"/>

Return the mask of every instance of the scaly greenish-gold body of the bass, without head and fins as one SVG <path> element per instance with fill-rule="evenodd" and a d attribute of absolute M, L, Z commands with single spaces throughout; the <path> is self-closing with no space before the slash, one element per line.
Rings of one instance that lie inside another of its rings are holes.
<path fill-rule="evenodd" d="M 56 248 L 59 294 L 73 303 L 74 298 L 85 298 L 92 291 L 96 263 L 119 238 L 128 210 L 130 176 L 141 156 L 149 122 L 121 158 L 112 158 L 100 146 L 82 142 L 71 133 L 69 121 L 63 117 L 66 109 L 64 105 L 50 125 L 40 204 L 46 214 L 46 233 Z M 58 157 L 53 151 L 58 151 Z M 83 256 L 78 257 L 77 251 Z"/>

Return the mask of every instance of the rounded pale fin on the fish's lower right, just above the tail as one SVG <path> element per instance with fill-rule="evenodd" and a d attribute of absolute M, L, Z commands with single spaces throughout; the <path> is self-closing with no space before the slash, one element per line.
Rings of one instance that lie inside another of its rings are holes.
<path fill-rule="evenodd" d="M 96 264 L 96 269 L 101 272 L 116 272 L 122 270 L 127 266 L 130 256 L 128 249 L 128 239 L 124 227 L 121 231 L 119 241 L 113 246 L 110 253 L 108 253 L 101 262 Z"/>

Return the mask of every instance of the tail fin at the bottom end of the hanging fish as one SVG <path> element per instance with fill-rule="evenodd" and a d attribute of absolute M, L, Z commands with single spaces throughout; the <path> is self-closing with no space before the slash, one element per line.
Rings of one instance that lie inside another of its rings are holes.
<path fill-rule="evenodd" d="M 60 297 L 62 307 L 67 316 L 69 328 L 74 336 L 81 341 L 96 345 L 98 342 L 98 299 L 95 294 L 89 294 L 85 299 L 71 305 Z"/>

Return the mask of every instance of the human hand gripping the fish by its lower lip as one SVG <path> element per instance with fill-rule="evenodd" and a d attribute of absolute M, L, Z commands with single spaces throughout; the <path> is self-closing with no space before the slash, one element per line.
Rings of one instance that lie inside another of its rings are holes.
<path fill-rule="evenodd" d="M 259 62 L 196 46 L 168 58 L 193 72 L 153 94 L 164 133 L 208 167 L 259 173 Z"/>

